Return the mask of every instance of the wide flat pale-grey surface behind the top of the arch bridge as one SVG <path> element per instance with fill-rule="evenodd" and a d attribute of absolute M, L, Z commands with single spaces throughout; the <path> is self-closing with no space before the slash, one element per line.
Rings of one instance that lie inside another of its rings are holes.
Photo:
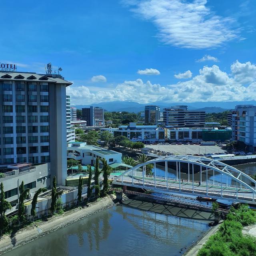
<path fill-rule="evenodd" d="M 186 155 L 186 154 L 220 154 L 226 153 L 225 150 L 219 146 L 200 146 L 200 145 L 146 145 L 147 148 L 154 150 L 162 150 L 168 153 Z"/>

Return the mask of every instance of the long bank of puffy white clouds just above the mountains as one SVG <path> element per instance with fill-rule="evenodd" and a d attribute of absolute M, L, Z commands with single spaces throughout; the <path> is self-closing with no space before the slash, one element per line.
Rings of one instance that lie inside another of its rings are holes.
<path fill-rule="evenodd" d="M 224 102 L 255 100 L 256 65 L 236 61 L 227 73 L 217 65 L 204 66 L 193 78 L 176 84 L 160 85 L 141 79 L 124 81 L 115 88 L 90 91 L 86 86 L 67 87 L 71 104 L 91 104 L 109 101 L 139 103 L 162 102 Z M 246 78 L 246 80 L 244 80 Z M 244 80 L 244 81 L 243 81 Z M 245 83 L 244 83 L 245 82 Z"/>

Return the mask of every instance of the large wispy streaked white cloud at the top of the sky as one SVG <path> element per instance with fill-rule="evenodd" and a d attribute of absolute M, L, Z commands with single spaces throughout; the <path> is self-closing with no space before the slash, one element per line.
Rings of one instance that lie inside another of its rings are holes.
<path fill-rule="evenodd" d="M 165 44 L 183 48 L 216 48 L 238 37 L 232 29 L 234 18 L 216 15 L 207 0 L 123 0 L 139 18 L 158 29 Z"/>

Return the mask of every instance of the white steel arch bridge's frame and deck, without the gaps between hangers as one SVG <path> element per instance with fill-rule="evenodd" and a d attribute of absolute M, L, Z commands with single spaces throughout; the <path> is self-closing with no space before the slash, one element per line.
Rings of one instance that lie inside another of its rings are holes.
<path fill-rule="evenodd" d="M 160 162 L 164 162 L 165 177 L 156 176 L 156 164 Z M 168 162 L 176 162 L 176 180 L 168 177 Z M 185 180 L 185 182 L 181 178 L 180 163 L 188 164 L 188 180 Z M 148 164 L 154 165 L 154 174 L 151 176 L 146 175 L 146 165 Z M 192 170 L 190 170 L 190 165 L 192 165 Z M 200 166 L 201 180 L 194 179 L 194 165 Z M 139 168 L 142 168 L 140 172 L 137 171 Z M 208 172 L 211 170 L 213 171 L 213 177 L 214 172 L 221 174 L 221 182 L 215 182 L 214 184 L 213 178 L 213 185 L 209 183 Z M 192 181 L 189 178 L 190 172 L 192 173 Z M 206 172 L 206 182 L 202 182 L 202 172 Z M 223 175 L 229 177 L 231 181 L 233 180 L 236 185 L 228 186 L 226 184 L 226 186 L 223 186 Z M 253 184 L 253 187 L 246 183 L 245 180 Z M 149 160 L 143 164 L 138 164 L 116 177 L 113 180 L 113 184 L 147 188 L 153 191 L 167 190 L 169 192 L 182 192 L 184 194 L 206 195 L 213 198 L 223 198 L 247 203 L 254 203 L 254 198 L 256 198 L 256 181 L 247 174 L 220 161 L 191 155 L 163 156 Z"/>

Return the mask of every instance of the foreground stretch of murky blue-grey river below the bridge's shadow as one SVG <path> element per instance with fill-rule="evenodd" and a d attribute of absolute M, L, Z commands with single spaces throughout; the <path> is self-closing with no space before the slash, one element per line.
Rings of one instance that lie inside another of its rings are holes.
<path fill-rule="evenodd" d="M 84 218 L 4 256 L 182 255 L 208 222 L 119 205 Z M 180 249 L 183 248 L 180 253 Z"/>

